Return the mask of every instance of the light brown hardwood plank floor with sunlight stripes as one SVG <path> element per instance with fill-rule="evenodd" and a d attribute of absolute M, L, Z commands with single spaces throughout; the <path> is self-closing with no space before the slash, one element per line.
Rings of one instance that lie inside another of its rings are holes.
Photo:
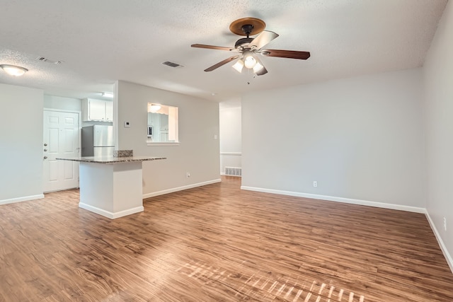
<path fill-rule="evenodd" d="M 423 214 L 240 190 L 110 220 L 78 190 L 0 206 L 0 301 L 453 301 Z"/>

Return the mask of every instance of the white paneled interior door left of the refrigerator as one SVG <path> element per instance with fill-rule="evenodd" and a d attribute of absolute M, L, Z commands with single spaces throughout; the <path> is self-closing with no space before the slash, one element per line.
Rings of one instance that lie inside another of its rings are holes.
<path fill-rule="evenodd" d="M 79 156 L 79 114 L 44 110 L 43 191 L 79 187 L 79 163 L 57 161 Z"/>

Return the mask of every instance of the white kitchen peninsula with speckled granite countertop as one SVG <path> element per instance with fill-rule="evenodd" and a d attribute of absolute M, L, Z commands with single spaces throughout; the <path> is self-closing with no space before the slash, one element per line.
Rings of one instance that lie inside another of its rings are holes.
<path fill-rule="evenodd" d="M 132 155 L 132 152 L 130 154 Z M 116 219 L 144 210 L 142 162 L 166 158 L 94 156 L 57 159 L 80 163 L 79 207 L 110 219 Z"/>

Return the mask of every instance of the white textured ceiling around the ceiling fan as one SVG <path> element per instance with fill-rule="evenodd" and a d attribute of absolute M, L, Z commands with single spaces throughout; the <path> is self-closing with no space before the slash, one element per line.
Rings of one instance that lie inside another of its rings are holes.
<path fill-rule="evenodd" d="M 231 100 L 241 93 L 423 65 L 447 0 L 0 0 L 0 64 L 29 69 L 0 83 L 70 98 L 98 97 L 117 80 Z M 268 48 L 311 52 L 304 60 L 262 57 L 255 79 L 226 64 L 229 24 L 261 18 L 280 37 Z M 46 57 L 62 64 L 42 62 Z M 183 67 L 171 68 L 162 62 Z M 214 95 L 213 95 L 214 94 Z"/>

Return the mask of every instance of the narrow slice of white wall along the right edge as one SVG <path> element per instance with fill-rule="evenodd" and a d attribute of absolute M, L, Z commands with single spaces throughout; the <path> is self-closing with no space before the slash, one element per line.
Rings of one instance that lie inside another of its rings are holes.
<path fill-rule="evenodd" d="M 453 3 L 449 1 L 425 59 L 427 209 L 453 270 Z M 447 231 L 443 219 L 447 219 Z"/>

